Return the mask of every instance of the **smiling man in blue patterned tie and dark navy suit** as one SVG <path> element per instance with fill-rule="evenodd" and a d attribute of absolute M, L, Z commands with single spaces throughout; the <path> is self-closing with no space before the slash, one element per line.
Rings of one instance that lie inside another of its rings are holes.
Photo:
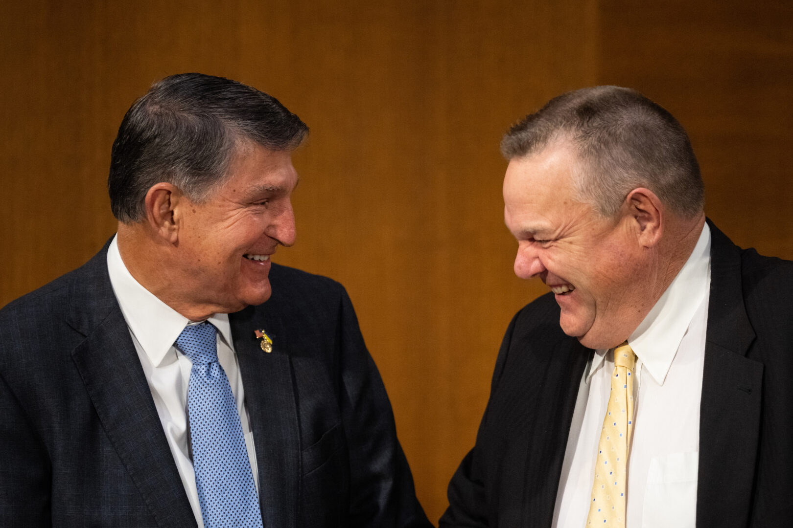
<path fill-rule="evenodd" d="M 203 74 L 132 104 L 117 235 L 0 311 L 0 526 L 431 526 L 347 293 L 270 262 L 307 133 Z"/>

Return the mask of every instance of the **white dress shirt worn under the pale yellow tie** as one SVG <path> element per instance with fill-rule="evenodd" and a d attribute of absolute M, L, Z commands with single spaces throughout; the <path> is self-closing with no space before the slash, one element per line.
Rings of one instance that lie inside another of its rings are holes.
<path fill-rule="evenodd" d="M 699 400 L 711 287 L 711 230 L 642 324 L 636 353 L 634 432 L 628 457 L 627 528 L 695 526 Z M 554 507 L 554 528 L 586 525 L 597 446 L 614 370 L 598 350 L 584 370 Z"/>

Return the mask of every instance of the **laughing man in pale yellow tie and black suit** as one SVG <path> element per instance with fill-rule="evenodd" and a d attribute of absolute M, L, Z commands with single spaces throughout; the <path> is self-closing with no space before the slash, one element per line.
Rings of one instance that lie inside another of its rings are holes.
<path fill-rule="evenodd" d="M 634 90 L 556 97 L 502 142 L 512 319 L 441 526 L 786 526 L 791 262 L 703 212 L 684 129 Z"/>

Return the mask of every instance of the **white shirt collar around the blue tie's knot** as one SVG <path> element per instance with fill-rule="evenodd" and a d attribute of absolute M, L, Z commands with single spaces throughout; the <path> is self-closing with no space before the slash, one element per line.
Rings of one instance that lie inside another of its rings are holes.
<path fill-rule="evenodd" d="M 107 250 L 107 269 L 113 293 L 116 294 L 129 331 L 138 340 L 151 364 L 159 367 L 190 320 L 162 302 L 129 273 L 118 251 L 117 236 L 113 237 Z M 228 313 L 215 313 L 207 321 L 215 326 L 221 339 L 232 346 Z"/>

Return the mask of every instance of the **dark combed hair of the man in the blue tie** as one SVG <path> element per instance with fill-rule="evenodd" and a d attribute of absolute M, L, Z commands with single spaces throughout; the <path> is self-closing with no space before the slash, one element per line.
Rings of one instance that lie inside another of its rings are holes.
<path fill-rule="evenodd" d="M 110 156 L 110 208 L 121 222 L 146 216 L 152 185 L 174 184 L 201 202 L 228 177 L 245 141 L 293 150 L 308 127 L 275 97 L 227 78 L 171 75 L 129 108 Z"/>

